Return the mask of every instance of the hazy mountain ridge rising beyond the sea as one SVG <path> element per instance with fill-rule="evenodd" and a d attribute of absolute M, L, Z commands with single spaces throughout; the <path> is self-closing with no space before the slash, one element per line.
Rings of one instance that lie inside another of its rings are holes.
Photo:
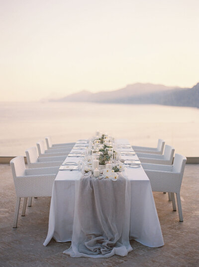
<path fill-rule="evenodd" d="M 151 83 L 135 83 L 115 91 L 91 93 L 84 90 L 51 101 L 159 104 L 199 107 L 199 83 L 193 88 L 169 87 Z"/>

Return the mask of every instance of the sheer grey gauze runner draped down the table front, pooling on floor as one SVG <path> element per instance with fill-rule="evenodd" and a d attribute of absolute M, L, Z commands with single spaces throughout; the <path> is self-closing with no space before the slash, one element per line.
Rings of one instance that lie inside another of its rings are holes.
<path fill-rule="evenodd" d="M 82 176 L 76 181 L 71 257 L 126 256 L 129 243 L 131 188 L 128 178 L 117 181 Z"/>

